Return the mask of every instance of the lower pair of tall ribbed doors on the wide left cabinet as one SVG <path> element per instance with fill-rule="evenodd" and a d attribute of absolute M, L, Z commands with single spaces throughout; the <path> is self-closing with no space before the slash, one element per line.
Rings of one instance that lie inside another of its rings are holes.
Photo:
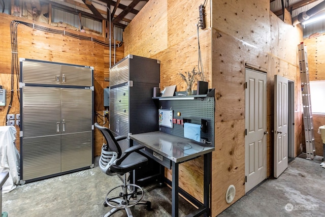
<path fill-rule="evenodd" d="M 24 86 L 22 179 L 92 164 L 92 90 Z"/>

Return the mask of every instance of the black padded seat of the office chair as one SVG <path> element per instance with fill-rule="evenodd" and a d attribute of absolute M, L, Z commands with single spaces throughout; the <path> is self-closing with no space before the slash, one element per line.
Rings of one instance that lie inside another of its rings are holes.
<path fill-rule="evenodd" d="M 148 159 L 137 152 L 133 152 L 127 156 L 120 165 L 112 165 L 111 171 L 124 174 L 138 169 L 148 163 Z"/>

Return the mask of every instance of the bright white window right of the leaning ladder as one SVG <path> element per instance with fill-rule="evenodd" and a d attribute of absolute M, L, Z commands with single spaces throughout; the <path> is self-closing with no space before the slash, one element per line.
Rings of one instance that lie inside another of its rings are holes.
<path fill-rule="evenodd" d="M 312 112 L 325 114 L 325 80 L 310 81 L 310 98 Z"/>

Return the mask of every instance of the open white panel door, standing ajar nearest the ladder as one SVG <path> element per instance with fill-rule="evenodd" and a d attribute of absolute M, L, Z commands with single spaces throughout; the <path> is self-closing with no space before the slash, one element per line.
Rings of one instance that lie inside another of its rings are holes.
<path fill-rule="evenodd" d="M 274 177 L 288 167 L 288 79 L 274 76 Z"/>

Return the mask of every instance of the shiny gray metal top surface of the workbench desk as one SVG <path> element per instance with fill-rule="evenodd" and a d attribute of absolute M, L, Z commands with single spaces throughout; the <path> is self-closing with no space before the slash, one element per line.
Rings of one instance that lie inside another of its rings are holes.
<path fill-rule="evenodd" d="M 129 135 L 129 138 L 175 163 L 190 160 L 214 150 L 214 147 L 206 147 L 188 139 L 161 133 L 160 131 L 133 134 Z"/>

